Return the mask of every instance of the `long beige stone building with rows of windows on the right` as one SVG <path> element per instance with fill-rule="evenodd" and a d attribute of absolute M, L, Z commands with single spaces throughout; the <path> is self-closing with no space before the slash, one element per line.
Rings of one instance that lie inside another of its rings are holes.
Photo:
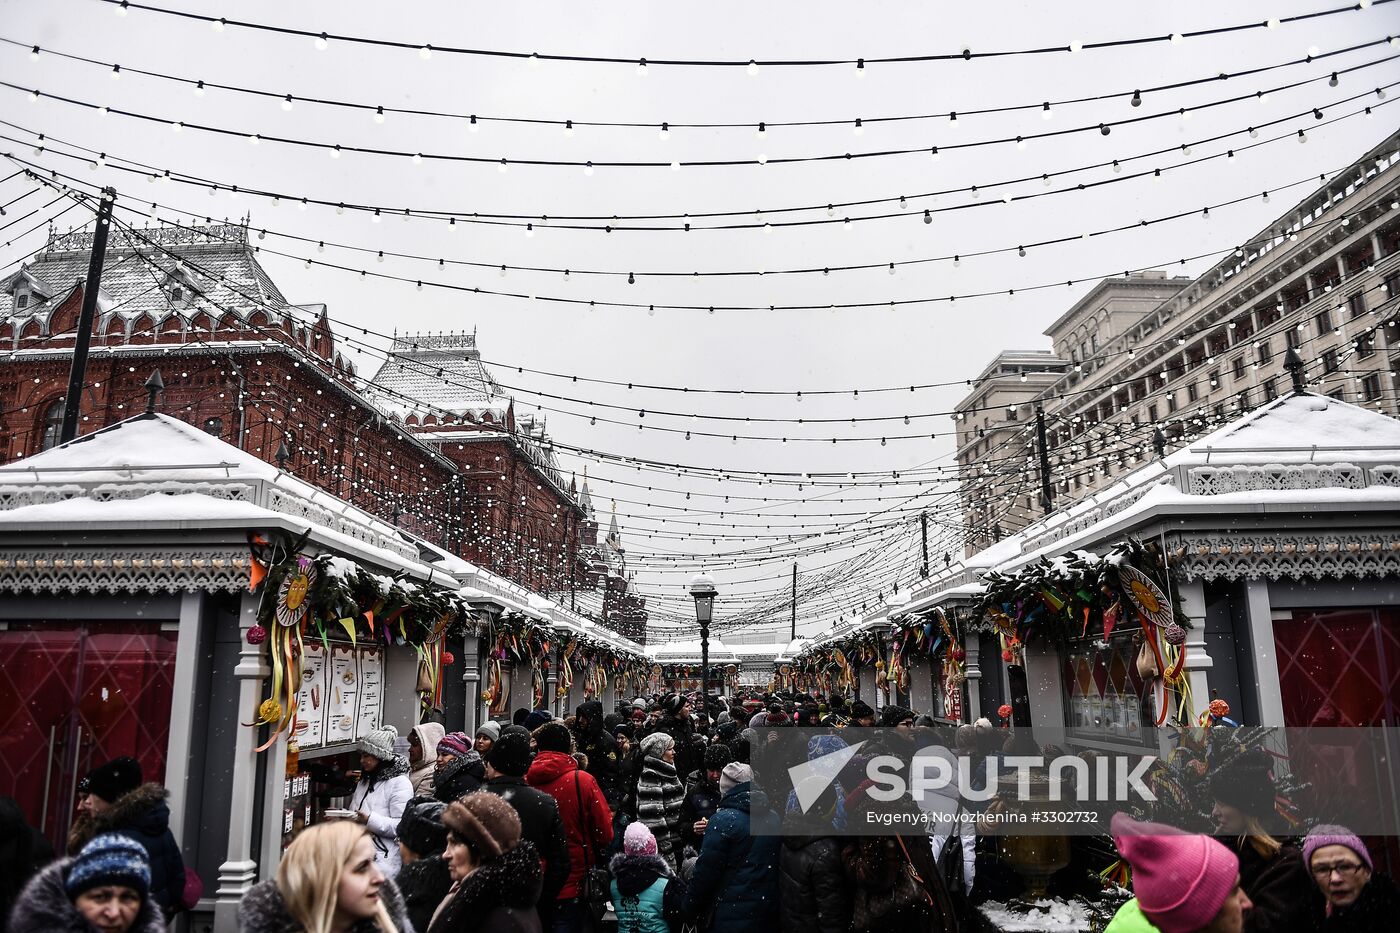
<path fill-rule="evenodd" d="M 1205 275 L 1105 279 L 1046 331 L 1000 353 L 958 405 L 963 546 L 1044 514 L 1036 409 L 1056 506 L 1292 388 L 1394 416 L 1400 366 L 1400 133 L 1338 172 Z"/>

